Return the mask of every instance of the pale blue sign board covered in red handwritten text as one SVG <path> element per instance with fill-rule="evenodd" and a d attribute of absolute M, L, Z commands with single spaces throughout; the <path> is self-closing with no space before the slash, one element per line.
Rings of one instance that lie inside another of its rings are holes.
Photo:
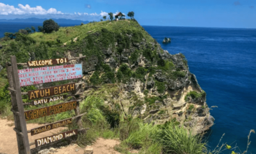
<path fill-rule="evenodd" d="M 20 87 L 83 77 L 81 64 L 27 68 L 18 72 Z"/>

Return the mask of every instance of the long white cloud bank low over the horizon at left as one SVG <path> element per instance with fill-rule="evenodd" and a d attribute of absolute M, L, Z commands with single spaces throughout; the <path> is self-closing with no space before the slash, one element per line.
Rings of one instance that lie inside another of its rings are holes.
<path fill-rule="evenodd" d="M 76 20 L 99 20 L 100 17 L 108 15 L 107 12 L 95 13 L 63 13 L 55 8 L 50 8 L 46 10 L 42 6 L 31 7 L 28 4 L 25 6 L 18 4 L 18 7 L 10 6 L 8 4 L 0 3 L 0 15 L 1 19 L 24 19 L 30 17 L 36 18 L 55 18 L 55 19 L 76 19 Z"/>

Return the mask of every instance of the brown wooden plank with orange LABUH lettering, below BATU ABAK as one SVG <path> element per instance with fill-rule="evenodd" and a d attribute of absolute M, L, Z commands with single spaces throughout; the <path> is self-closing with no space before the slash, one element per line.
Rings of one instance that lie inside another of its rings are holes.
<path fill-rule="evenodd" d="M 57 105 L 52 105 L 49 107 L 41 107 L 39 109 L 33 109 L 29 111 L 25 111 L 25 119 L 28 121 L 29 119 L 37 119 L 44 116 L 50 116 L 52 114 L 58 114 L 61 112 L 70 111 L 72 109 L 76 109 L 77 101 L 71 101 L 66 103 L 61 103 Z"/>

